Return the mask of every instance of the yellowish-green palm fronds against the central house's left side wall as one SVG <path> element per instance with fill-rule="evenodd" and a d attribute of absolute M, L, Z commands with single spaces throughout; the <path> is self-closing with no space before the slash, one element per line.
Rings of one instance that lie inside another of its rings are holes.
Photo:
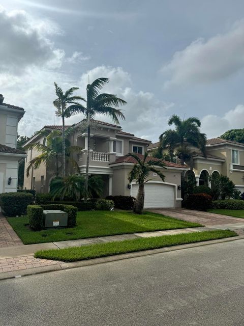
<path fill-rule="evenodd" d="M 80 152 L 82 148 L 80 146 L 70 146 L 70 142 L 67 139 L 70 133 L 74 132 L 74 128 L 70 127 L 65 131 L 65 158 L 69 160 L 79 171 L 79 167 L 77 165 L 76 160 L 70 157 L 71 153 Z M 42 163 L 46 166 L 54 160 L 56 166 L 56 173 L 55 175 L 59 175 L 58 170 L 58 162 L 60 161 L 59 158 L 63 159 L 63 138 L 62 132 L 59 130 L 52 130 L 48 133 L 46 130 L 42 130 L 38 133 L 41 137 L 44 136 L 43 144 L 39 143 L 29 143 L 24 146 L 24 149 L 33 149 L 41 152 L 40 155 L 34 157 L 31 161 L 29 161 L 28 167 L 26 169 L 26 176 L 29 176 L 29 171 L 34 168 L 35 170 L 40 167 Z"/>

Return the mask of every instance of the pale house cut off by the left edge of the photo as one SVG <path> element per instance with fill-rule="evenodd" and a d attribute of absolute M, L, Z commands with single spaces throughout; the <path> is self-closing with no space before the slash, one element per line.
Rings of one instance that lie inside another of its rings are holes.
<path fill-rule="evenodd" d="M 18 122 L 25 111 L 4 103 L 0 94 L 0 193 L 17 191 L 19 160 L 25 152 L 16 149 Z"/>

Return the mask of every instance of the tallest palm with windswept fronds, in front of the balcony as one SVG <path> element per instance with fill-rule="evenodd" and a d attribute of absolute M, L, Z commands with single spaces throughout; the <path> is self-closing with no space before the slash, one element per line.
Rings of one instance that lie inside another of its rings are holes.
<path fill-rule="evenodd" d="M 115 123 L 119 123 L 118 119 L 124 119 L 125 116 L 121 110 L 115 108 L 125 105 L 127 102 L 116 95 L 102 93 L 100 90 L 109 82 L 109 78 L 98 78 L 92 84 L 86 86 L 86 107 L 79 105 L 79 111 L 85 115 L 87 123 L 87 159 L 86 159 L 86 175 L 85 175 L 85 197 L 87 201 L 88 194 L 88 172 L 89 172 L 89 156 L 90 156 L 90 120 L 94 119 L 96 114 L 107 115 L 112 118 Z M 76 109 L 75 109 L 76 110 Z"/>

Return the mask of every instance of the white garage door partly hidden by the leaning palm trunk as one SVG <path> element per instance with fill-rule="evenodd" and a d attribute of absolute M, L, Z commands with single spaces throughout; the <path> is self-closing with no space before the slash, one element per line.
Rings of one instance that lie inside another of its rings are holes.
<path fill-rule="evenodd" d="M 175 187 L 163 183 L 145 183 L 145 208 L 174 207 Z M 136 197 L 138 184 L 132 184 L 131 196 Z"/>

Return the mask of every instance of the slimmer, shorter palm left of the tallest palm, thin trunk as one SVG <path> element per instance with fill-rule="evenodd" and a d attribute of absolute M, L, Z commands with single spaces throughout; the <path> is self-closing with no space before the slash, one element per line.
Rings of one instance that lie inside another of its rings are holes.
<path fill-rule="evenodd" d="M 56 107 L 56 116 L 62 118 L 63 130 L 62 130 L 62 145 L 63 145 L 63 156 L 62 156 L 62 175 L 65 177 L 66 175 L 66 167 L 65 167 L 65 118 L 69 118 L 74 114 L 81 113 L 80 111 L 80 103 L 79 100 L 84 101 L 83 97 L 73 95 L 74 91 L 78 90 L 78 87 L 72 87 L 66 92 L 62 90 L 62 88 L 55 85 L 55 93 L 57 98 L 53 101 L 53 105 Z M 68 104 L 71 104 L 67 107 Z"/>

